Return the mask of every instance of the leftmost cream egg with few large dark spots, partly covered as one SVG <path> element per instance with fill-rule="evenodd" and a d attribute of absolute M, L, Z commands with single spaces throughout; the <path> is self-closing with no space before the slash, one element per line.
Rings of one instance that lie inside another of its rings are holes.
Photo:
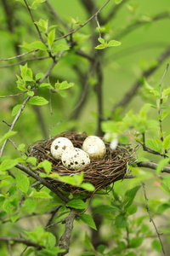
<path fill-rule="evenodd" d="M 61 160 L 61 155 L 67 148 L 73 148 L 73 144 L 66 137 L 57 137 L 51 144 L 51 154 L 56 160 Z"/>

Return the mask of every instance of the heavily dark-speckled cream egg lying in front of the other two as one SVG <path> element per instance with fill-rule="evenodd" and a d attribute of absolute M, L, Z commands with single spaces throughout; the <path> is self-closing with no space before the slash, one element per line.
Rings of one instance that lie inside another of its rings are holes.
<path fill-rule="evenodd" d="M 80 148 L 68 148 L 61 156 L 63 166 L 67 169 L 78 170 L 90 163 L 89 156 Z"/>

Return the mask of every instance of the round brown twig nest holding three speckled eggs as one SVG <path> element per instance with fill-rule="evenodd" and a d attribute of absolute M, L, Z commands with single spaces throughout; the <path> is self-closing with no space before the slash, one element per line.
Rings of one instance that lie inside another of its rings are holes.
<path fill-rule="evenodd" d="M 66 169 L 60 160 L 55 160 L 50 153 L 51 143 L 57 137 L 66 137 L 71 140 L 74 147 L 82 148 L 82 143 L 88 137 L 86 133 L 64 132 L 50 140 L 41 140 L 28 148 L 29 156 L 37 158 L 37 165 L 43 160 L 48 160 L 52 164 L 51 173 L 57 173 L 59 176 L 72 176 L 80 174 L 83 171 L 83 183 L 91 183 L 94 185 L 94 192 L 101 189 L 108 191 L 111 183 L 123 179 L 128 170 L 128 165 L 132 165 L 135 159 L 136 149 L 130 148 L 129 145 L 119 145 L 116 149 L 111 150 L 110 143 L 105 143 L 106 154 L 102 160 L 91 160 L 90 164 L 82 168 L 72 171 Z M 43 168 L 37 168 L 37 172 L 45 172 Z M 48 178 L 50 183 L 65 191 L 74 193 L 87 192 L 84 189 L 77 188 L 67 183 L 62 183 L 58 180 Z"/>

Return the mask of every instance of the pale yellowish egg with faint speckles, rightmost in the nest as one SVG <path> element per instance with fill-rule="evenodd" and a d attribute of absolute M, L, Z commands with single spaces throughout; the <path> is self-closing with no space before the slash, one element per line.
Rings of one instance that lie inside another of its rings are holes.
<path fill-rule="evenodd" d="M 106 152 L 105 143 L 97 136 L 88 136 L 82 144 L 82 150 L 94 160 L 103 159 Z"/>

